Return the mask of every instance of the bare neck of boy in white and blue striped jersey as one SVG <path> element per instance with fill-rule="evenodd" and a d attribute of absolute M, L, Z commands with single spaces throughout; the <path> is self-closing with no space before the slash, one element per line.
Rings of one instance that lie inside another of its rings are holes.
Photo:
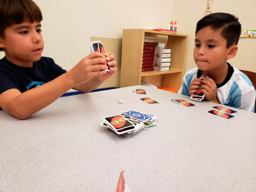
<path fill-rule="evenodd" d="M 205 77 L 208 76 L 216 84 L 221 84 L 226 79 L 227 74 L 228 74 L 227 62 L 223 63 L 223 65 L 221 65 L 221 67 L 219 67 L 219 68 L 202 72 L 202 75 L 204 75 Z"/>

